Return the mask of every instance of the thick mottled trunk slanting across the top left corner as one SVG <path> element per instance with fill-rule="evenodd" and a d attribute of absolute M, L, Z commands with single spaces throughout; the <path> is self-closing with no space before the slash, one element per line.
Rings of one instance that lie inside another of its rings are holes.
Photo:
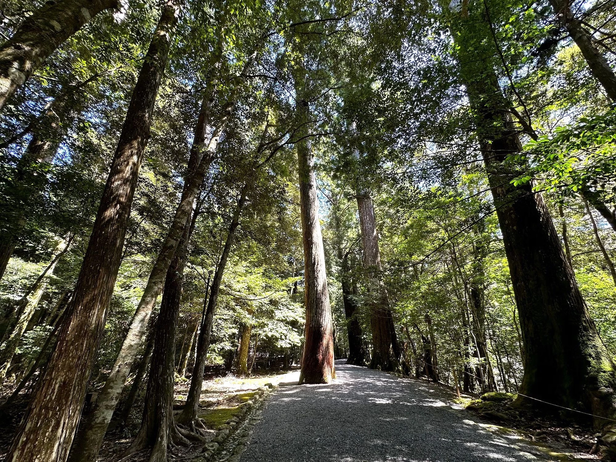
<path fill-rule="evenodd" d="M 0 110 L 57 47 L 118 0 L 47 2 L 0 47 Z"/>

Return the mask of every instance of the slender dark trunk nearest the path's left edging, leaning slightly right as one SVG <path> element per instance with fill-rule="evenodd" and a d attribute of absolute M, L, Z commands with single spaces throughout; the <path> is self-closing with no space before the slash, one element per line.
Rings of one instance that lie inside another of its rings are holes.
<path fill-rule="evenodd" d="M 235 240 L 235 231 L 240 224 L 241 211 L 246 203 L 246 190 L 247 187 L 245 185 L 241 190 L 240 200 L 238 200 L 235 211 L 233 212 L 229 230 L 227 231 L 227 239 L 222 248 L 221 260 L 216 267 L 216 273 L 214 273 L 212 286 L 209 290 L 208 308 L 205 311 L 203 324 L 201 325 L 199 338 L 197 340 L 195 366 L 193 367 L 193 374 L 190 378 L 190 389 L 188 389 L 186 405 L 182 413 L 177 416 L 178 423 L 190 425 L 191 428 L 195 428 L 195 425 L 198 425 L 197 411 L 199 408 L 199 399 L 201 397 L 201 387 L 203 387 L 203 373 L 205 371 L 205 362 L 208 357 L 209 340 L 212 333 L 212 325 L 214 323 L 214 310 L 216 309 L 218 294 L 221 290 L 222 276 L 224 275 L 225 267 L 227 267 L 227 261 L 229 261 L 229 255 L 231 254 L 231 248 Z"/>

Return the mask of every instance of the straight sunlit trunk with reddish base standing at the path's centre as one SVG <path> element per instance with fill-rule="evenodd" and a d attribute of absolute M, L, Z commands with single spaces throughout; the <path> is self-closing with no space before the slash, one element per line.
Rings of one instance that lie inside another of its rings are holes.
<path fill-rule="evenodd" d="M 301 92 L 298 92 L 301 94 Z M 308 102 L 298 98 L 299 120 L 309 118 Z M 304 127 L 306 125 L 304 124 Z M 307 136 L 306 129 L 298 136 Z M 330 383 L 334 370 L 334 340 L 331 323 L 330 294 L 327 290 L 323 236 L 318 221 L 317 179 L 314 174 L 314 153 L 310 139 L 297 144 L 299 173 L 299 203 L 301 206 L 302 238 L 304 240 L 304 303 L 306 326 L 299 384 Z"/>

